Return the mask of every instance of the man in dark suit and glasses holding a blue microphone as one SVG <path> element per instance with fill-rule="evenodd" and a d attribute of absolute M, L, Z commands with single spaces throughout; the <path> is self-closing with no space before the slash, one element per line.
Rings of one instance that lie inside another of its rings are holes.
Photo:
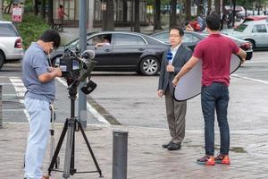
<path fill-rule="evenodd" d="M 170 49 L 163 53 L 161 64 L 161 72 L 159 76 L 159 84 L 157 95 L 162 98 L 165 97 L 165 107 L 169 130 L 171 133 L 171 141 L 163 144 L 163 148 L 169 150 L 180 149 L 180 143 L 185 135 L 185 115 L 187 102 L 178 102 L 173 98 L 173 84 L 174 76 L 180 72 L 181 67 L 188 62 L 192 55 L 192 51 L 181 44 L 184 32 L 179 27 L 172 27 L 169 34 L 169 40 L 172 44 Z M 171 56 L 168 60 L 167 55 Z"/>

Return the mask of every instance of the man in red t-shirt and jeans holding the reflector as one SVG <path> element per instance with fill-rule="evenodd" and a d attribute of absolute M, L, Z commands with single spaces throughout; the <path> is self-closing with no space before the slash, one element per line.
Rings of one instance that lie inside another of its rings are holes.
<path fill-rule="evenodd" d="M 246 52 L 238 47 L 230 38 L 223 37 L 220 33 L 221 18 L 210 14 L 205 19 L 209 36 L 201 40 L 195 48 L 194 54 L 172 81 L 176 86 L 180 77 L 190 71 L 202 60 L 202 90 L 201 104 L 205 120 L 205 157 L 197 159 L 198 164 L 214 166 L 215 162 L 230 164 L 230 131 L 227 120 L 230 84 L 230 57 L 231 54 L 239 55 L 242 63 L 245 62 Z M 221 134 L 220 154 L 214 158 L 214 111 Z"/>

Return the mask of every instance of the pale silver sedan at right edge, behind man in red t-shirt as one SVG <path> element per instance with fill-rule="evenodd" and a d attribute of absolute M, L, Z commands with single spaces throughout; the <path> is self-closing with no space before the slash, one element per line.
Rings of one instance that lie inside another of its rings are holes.
<path fill-rule="evenodd" d="M 268 47 L 268 20 L 246 21 L 234 30 L 222 30 L 234 38 L 247 40 L 252 48 Z"/>

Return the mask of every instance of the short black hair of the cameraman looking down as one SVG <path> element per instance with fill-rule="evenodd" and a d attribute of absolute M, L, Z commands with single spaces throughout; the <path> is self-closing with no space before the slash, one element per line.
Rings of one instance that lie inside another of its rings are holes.
<path fill-rule="evenodd" d="M 53 42 L 55 48 L 59 47 L 61 44 L 61 37 L 57 30 L 46 30 L 38 39 L 43 42 Z"/>

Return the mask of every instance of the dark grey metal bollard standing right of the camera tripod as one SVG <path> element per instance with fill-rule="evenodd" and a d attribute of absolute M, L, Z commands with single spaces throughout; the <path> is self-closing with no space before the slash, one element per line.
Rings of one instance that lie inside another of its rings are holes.
<path fill-rule="evenodd" d="M 127 179 L 128 134 L 126 131 L 113 131 L 113 179 Z"/>

